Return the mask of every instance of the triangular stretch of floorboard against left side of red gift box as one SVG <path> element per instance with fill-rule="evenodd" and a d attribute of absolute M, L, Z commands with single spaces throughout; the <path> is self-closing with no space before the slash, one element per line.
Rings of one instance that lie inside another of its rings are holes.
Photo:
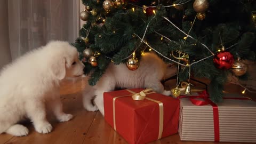
<path fill-rule="evenodd" d="M 127 142 L 121 137 L 121 135 L 119 135 L 114 129 L 112 129 L 112 127 L 104 120 L 103 116 L 98 111 L 83 143 L 126 144 Z"/>

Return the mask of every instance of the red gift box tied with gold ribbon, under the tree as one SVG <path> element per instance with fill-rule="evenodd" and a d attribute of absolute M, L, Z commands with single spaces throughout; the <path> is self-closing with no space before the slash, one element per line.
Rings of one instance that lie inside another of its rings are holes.
<path fill-rule="evenodd" d="M 147 143 L 178 133 L 180 101 L 155 92 L 134 100 L 132 95 L 142 90 L 105 92 L 105 120 L 129 143 Z"/>

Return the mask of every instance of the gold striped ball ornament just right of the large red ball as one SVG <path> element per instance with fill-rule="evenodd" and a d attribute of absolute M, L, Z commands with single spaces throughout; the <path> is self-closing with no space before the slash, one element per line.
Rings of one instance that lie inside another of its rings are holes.
<path fill-rule="evenodd" d="M 247 71 L 247 65 L 241 61 L 241 60 L 237 60 L 234 62 L 234 64 L 231 67 L 231 72 L 235 75 L 235 76 L 242 76 L 246 73 Z"/>

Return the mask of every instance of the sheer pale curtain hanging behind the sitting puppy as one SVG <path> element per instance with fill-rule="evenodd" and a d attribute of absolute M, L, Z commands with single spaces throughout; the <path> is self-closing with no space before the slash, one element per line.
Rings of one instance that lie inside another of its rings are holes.
<path fill-rule="evenodd" d="M 75 42 L 81 0 L 8 0 L 12 60 L 51 40 Z"/>

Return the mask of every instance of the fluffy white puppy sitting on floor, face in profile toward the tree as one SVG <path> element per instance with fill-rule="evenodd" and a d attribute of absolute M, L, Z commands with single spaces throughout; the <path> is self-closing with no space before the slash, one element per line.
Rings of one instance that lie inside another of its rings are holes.
<path fill-rule="evenodd" d="M 37 132 L 51 132 L 46 107 L 60 122 L 69 121 L 73 116 L 62 111 L 59 81 L 82 75 L 83 68 L 76 48 L 60 41 L 30 51 L 4 67 L 0 73 L 0 133 L 27 135 L 27 127 L 17 124 L 23 118 L 31 119 Z"/>

